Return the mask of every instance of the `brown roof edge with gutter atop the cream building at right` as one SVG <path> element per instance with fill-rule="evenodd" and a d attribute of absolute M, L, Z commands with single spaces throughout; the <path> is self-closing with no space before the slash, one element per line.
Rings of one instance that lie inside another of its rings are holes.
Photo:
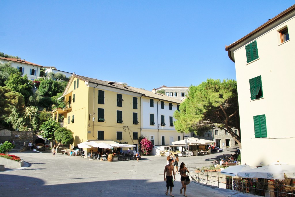
<path fill-rule="evenodd" d="M 251 36 L 255 35 L 257 32 L 269 27 L 270 25 L 272 25 L 273 23 L 277 22 L 278 20 L 282 19 L 283 17 L 285 17 L 286 15 L 290 14 L 291 12 L 293 12 L 295 10 L 295 4 L 291 7 L 289 7 L 288 9 L 286 9 L 285 11 L 281 12 L 280 14 L 278 14 L 277 16 L 273 17 L 272 19 L 268 20 L 268 22 L 264 23 L 263 25 L 261 25 L 260 27 L 258 27 L 257 29 L 255 29 L 254 31 L 248 33 L 247 35 L 245 35 L 243 38 L 237 40 L 236 42 L 230 44 L 229 46 L 225 46 L 225 51 L 228 51 L 228 56 L 229 58 L 234 61 L 234 59 L 232 58 L 231 54 L 230 54 L 230 48 L 235 47 L 236 45 L 239 45 L 240 43 L 242 43 L 244 40 L 250 38 Z"/>

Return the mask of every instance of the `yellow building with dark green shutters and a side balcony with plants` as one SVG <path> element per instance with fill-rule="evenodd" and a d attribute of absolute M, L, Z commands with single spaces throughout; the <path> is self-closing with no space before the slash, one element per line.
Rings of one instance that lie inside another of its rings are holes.
<path fill-rule="evenodd" d="M 127 84 L 73 74 L 63 96 L 65 107 L 53 113 L 64 115 L 63 126 L 73 132 L 74 146 L 87 140 L 112 140 L 135 144 L 137 150 L 141 93 Z"/>

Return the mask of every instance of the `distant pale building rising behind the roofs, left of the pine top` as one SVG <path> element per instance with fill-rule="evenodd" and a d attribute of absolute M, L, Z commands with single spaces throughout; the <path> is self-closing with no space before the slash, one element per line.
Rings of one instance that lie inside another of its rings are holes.
<path fill-rule="evenodd" d="M 167 87 L 164 85 L 156 88 L 155 91 L 162 89 L 165 90 L 166 96 L 180 100 L 181 102 L 186 98 L 187 92 L 189 91 L 189 87 Z"/>

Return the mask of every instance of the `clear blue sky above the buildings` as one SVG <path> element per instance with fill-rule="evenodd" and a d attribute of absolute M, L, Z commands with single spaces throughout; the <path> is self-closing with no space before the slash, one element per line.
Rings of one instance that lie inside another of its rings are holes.
<path fill-rule="evenodd" d="M 0 51 L 150 91 L 189 87 L 236 79 L 225 45 L 294 3 L 0 0 Z"/>

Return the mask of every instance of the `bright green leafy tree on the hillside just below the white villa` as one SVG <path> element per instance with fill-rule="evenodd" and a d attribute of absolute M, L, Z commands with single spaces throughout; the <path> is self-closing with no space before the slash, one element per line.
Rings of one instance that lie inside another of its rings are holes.
<path fill-rule="evenodd" d="M 7 87 L 10 87 L 13 91 L 19 92 L 24 96 L 24 100 L 27 103 L 29 97 L 33 95 L 32 82 L 28 80 L 27 75 L 19 76 L 19 74 L 11 74 L 6 82 Z"/>

